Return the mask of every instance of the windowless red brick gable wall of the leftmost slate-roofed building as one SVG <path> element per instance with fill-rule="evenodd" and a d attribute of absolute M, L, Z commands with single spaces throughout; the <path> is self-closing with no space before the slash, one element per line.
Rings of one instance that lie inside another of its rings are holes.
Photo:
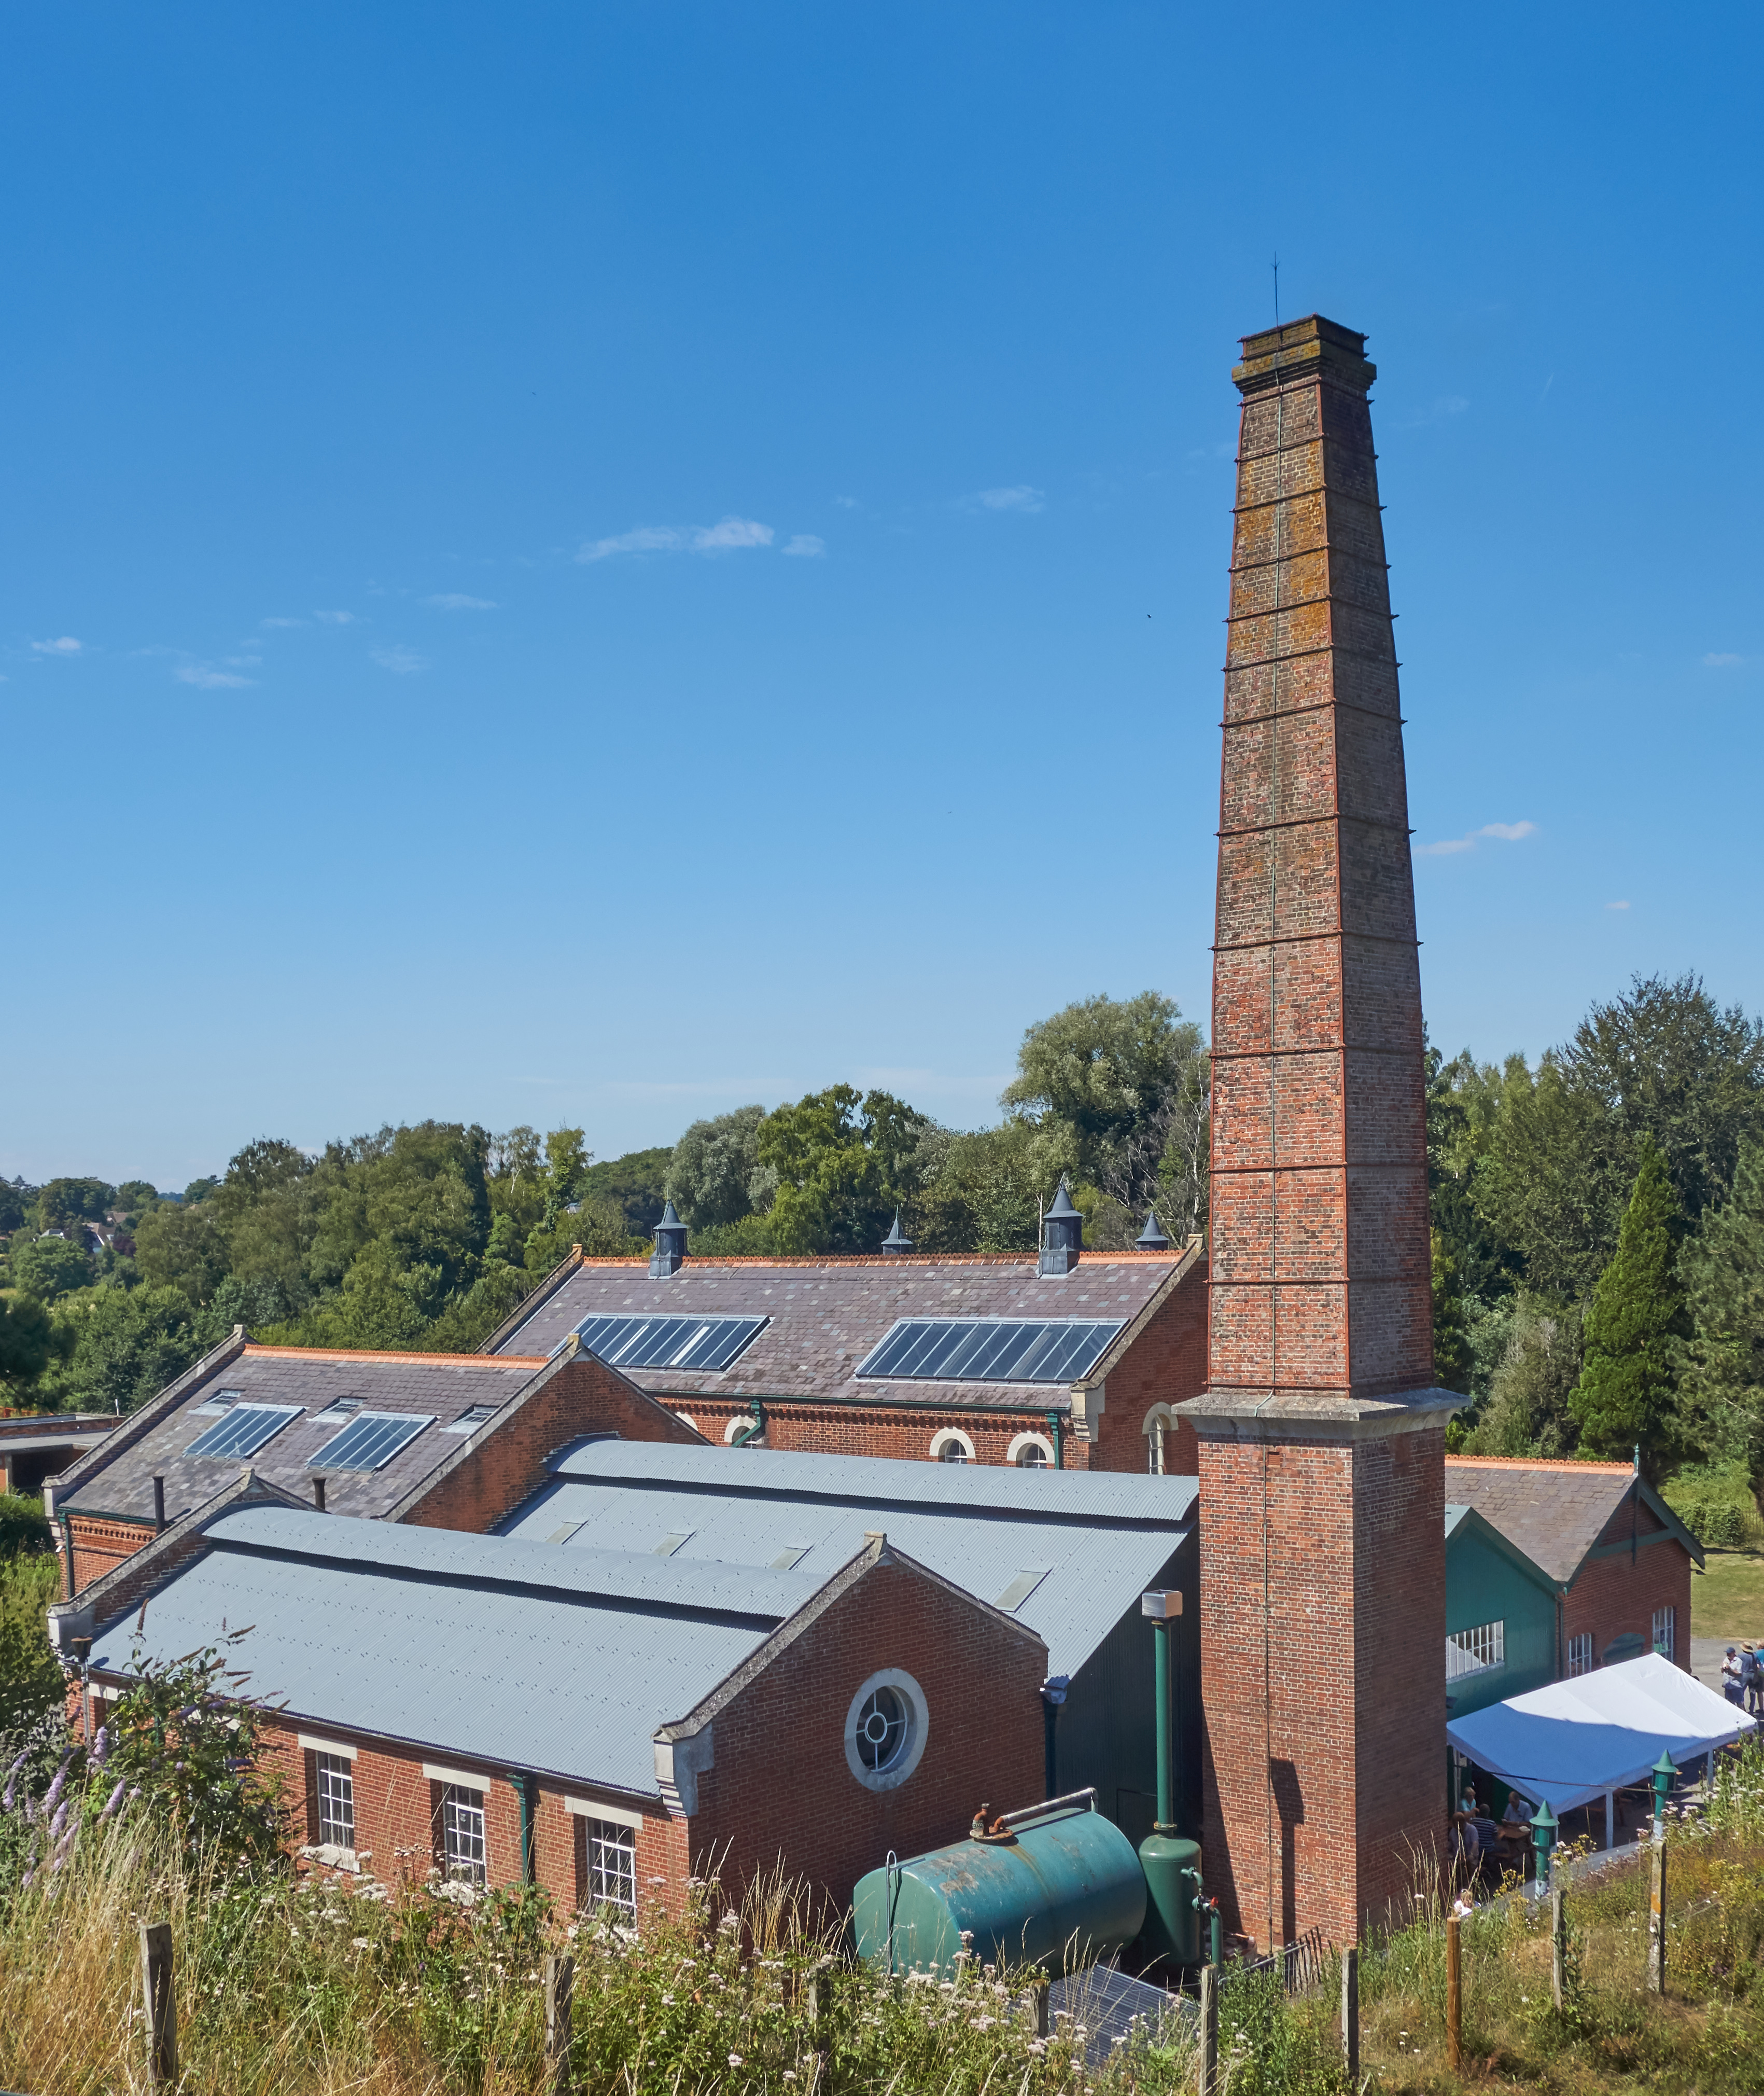
<path fill-rule="evenodd" d="M 585 1354 L 559 1362 L 503 1421 L 419 1486 L 396 1518 L 417 1528 L 486 1534 L 545 1484 L 545 1459 L 582 1434 L 698 1440 L 664 1404 Z"/>

